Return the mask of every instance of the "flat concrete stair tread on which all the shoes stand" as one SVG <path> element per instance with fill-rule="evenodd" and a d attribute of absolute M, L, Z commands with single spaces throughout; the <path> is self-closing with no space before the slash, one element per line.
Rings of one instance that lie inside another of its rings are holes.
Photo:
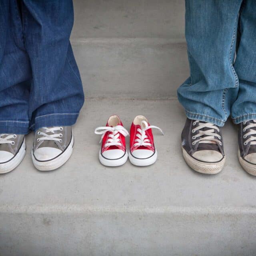
<path fill-rule="evenodd" d="M 120 115 L 127 129 L 138 114 L 163 129 L 165 136 L 154 131 L 154 165 L 100 164 L 100 136 L 94 135 L 94 128 L 105 125 L 111 114 Z M 236 126 L 227 122 L 223 129 L 224 170 L 207 176 L 191 170 L 182 158 L 184 121 L 177 100 L 86 100 L 74 126 L 73 155 L 62 168 L 37 171 L 30 157 L 33 134 L 27 136 L 24 161 L 0 176 L 0 212 L 255 212 L 255 178 L 238 163 Z"/>

